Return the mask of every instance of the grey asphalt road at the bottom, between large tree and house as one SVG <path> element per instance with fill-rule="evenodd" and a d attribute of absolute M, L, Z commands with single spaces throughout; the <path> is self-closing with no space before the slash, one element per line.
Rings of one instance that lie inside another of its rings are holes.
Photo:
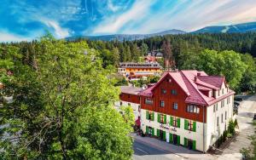
<path fill-rule="evenodd" d="M 133 143 L 134 155 L 133 159 L 135 160 L 170 160 L 170 159 L 183 159 L 182 157 L 178 157 L 175 154 L 172 154 L 168 151 L 163 151 L 154 146 L 150 146 L 148 144 L 143 143 L 139 140 L 134 140 Z"/>

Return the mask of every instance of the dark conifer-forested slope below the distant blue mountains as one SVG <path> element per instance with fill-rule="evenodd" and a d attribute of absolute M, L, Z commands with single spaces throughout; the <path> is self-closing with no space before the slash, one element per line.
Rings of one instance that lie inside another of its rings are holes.
<path fill-rule="evenodd" d="M 78 39 L 76 41 L 80 41 Z M 200 33 L 200 34 L 179 34 L 148 37 L 136 41 L 90 41 L 95 49 L 119 49 L 119 60 L 138 60 L 138 57 L 147 54 L 147 51 L 160 50 L 164 40 L 172 45 L 172 54 L 178 61 L 178 55 L 182 52 L 199 52 L 202 49 L 234 50 L 241 54 L 252 54 L 256 57 L 256 32 L 247 33 Z M 137 54 L 137 49 L 140 50 Z"/>

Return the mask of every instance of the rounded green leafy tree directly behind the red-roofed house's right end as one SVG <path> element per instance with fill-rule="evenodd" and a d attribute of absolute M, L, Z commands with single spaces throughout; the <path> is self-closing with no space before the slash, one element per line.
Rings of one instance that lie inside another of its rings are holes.
<path fill-rule="evenodd" d="M 241 60 L 241 54 L 234 51 L 215 51 L 206 49 L 195 61 L 196 68 L 210 75 L 222 75 L 231 89 L 239 89 L 241 78 L 247 65 Z"/>

